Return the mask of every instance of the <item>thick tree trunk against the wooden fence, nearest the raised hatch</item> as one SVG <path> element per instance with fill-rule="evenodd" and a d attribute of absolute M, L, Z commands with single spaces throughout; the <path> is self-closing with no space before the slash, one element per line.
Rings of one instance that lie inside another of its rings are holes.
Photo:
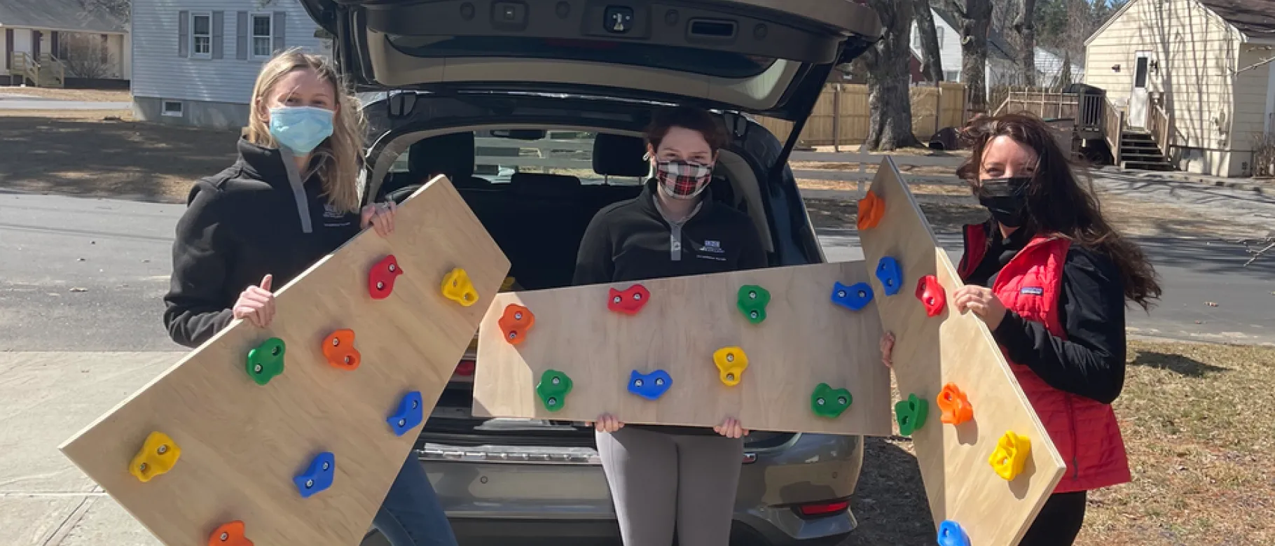
<path fill-rule="evenodd" d="M 912 34 L 913 4 L 868 0 L 868 5 L 876 10 L 885 33 L 863 55 L 870 112 L 866 148 L 894 150 L 919 146 L 921 141 L 912 134 L 912 97 L 908 93 L 912 80 L 908 38 Z"/>

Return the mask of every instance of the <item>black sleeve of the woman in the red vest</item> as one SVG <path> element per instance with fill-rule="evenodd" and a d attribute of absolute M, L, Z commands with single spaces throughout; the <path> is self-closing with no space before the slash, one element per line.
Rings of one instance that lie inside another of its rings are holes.
<path fill-rule="evenodd" d="M 1058 298 L 1067 340 L 1009 312 L 993 332 L 1014 361 L 1060 391 L 1111 403 L 1125 386 L 1125 291 L 1109 260 L 1072 248 Z"/>

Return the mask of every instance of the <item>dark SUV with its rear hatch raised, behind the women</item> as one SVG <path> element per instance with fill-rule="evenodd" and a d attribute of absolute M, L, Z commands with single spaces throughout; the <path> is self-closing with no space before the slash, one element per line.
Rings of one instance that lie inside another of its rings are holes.
<path fill-rule="evenodd" d="M 773 266 L 824 261 L 788 155 L 834 65 L 880 34 L 849 0 L 302 0 L 365 93 L 366 200 L 442 173 L 511 262 L 506 289 L 569 285 L 584 229 L 638 195 L 657 108 L 713 109 L 732 141 L 713 197 L 747 213 Z M 788 120 L 780 143 L 751 116 Z M 618 543 L 593 430 L 476 419 L 474 346 L 417 448 L 463 543 Z M 835 542 L 862 438 L 747 438 L 740 543 Z M 385 543 L 376 533 L 366 545 Z"/>

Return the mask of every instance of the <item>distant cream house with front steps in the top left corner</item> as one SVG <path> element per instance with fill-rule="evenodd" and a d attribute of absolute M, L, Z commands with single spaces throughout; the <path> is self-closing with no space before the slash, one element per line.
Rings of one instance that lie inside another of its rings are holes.
<path fill-rule="evenodd" d="M 88 85 L 116 80 L 122 87 L 133 71 L 129 25 L 79 0 L 0 1 L 0 79 L 11 85 L 60 87 L 79 79 Z M 55 65 L 57 78 L 46 79 Z M 45 70 L 28 70 L 36 66 Z"/>

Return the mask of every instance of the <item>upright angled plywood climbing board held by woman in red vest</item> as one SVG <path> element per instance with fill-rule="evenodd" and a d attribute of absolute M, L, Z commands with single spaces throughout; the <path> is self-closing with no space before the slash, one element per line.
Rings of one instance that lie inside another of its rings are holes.
<path fill-rule="evenodd" d="M 896 420 L 914 442 L 938 543 L 1016 545 L 1062 479 L 1062 457 L 991 331 L 952 305 L 963 283 L 889 158 L 861 211 L 876 218 L 859 225 L 872 288 L 884 290 L 898 265 L 898 293 L 878 298 L 877 311 L 895 335 L 894 374 L 905 398 Z"/>

